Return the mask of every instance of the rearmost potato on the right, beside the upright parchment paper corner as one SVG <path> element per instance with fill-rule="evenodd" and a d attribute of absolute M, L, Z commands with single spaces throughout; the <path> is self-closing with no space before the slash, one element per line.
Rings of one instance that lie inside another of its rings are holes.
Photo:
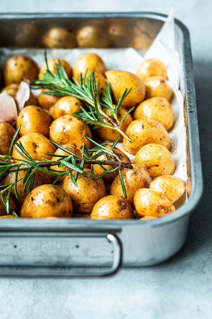
<path fill-rule="evenodd" d="M 158 59 L 146 60 L 139 66 L 136 75 L 141 80 L 151 77 L 153 75 L 158 75 L 162 78 L 167 79 L 167 69 L 166 65 Z"/>

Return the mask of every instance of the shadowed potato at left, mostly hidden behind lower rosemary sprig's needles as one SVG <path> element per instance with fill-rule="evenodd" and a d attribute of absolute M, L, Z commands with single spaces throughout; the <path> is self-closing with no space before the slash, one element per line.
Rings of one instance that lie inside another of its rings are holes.
<path fill-rule="evenodd" d="M 26 174 L 26 171 L 18 171 L 17 179 L 19 180 L 21 177 L 25 176 L 25 174 Z M 7 174 L 6 177 L 4 178 L 3 184 L 7 185 L 7 184 L 14 183 L 15 182 L 15 175 L 16 175 L 16 172 L 10 172 L 9 174 Z M 13 198 L 14 202 L 18 206 L 23 205 L 25 198 L 29 194 L 29 191 L 27 191 L 26 194 L 23 195 L 24 185 L 22 185 L 22 181 L 23 180 L 20 180 L 17 182 L 16 189 L 17 189 L 18 198 L 16 198 L 14 187 L 12 187 L 12 189 L 11 189 L 11 197 Z M 35 173 L 35 180 L 34 180 L 33 189 L 40 186 L 40 185 L 50 184 L 52 182 L 53 182 L 53 177 L 51 174 L 38 169 Z"/>

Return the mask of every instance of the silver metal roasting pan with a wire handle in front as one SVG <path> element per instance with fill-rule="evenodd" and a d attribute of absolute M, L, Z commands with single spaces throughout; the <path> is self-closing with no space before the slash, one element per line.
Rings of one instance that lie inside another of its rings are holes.
<path fill-rule="evenodd" d="M 62 26 L 76 32 L 83 26 L 93 25 L 104 30 L 101 40 L 109 37 L 111 46 L 133 47 L 136 43 L 137 49 L 145 51 L 166 17 L 148 12 L 0 14 L 0 46 L 42 48 L 43 35 L 52 27 Z M 138 22 L 140 34 L 135 34 L 134 26 Z M 121 26 L 119 31 L 115 35 L 107 34 L 106 30 L 114 24 Z M 121 265 L 161 263 L 182 247 L 190 213 L 202 195 L 203 181 L 189 33 L 177 19 L 175 33 L 179 39 L 176 49 L 182 65 L 180 90 L 187 133 L 187 202 L 169 215 L 143 222 L 138 219 L 2 219 L 1 277 L 107 276 Z M 141 41 L 134 41 L 135 37 Z"/>

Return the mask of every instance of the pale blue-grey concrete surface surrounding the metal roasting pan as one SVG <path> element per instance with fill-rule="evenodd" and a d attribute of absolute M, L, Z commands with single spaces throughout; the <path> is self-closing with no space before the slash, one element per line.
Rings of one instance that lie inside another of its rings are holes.
<path fill-rule="evenodd" d="M 169 261 L 104 279 L 0 279 L 1 318 L 211 318 L 211 0 L 7 0 L 1 12 L 158 11 L 189 28 L 194 59 L 204 195 L 188 239 Z"/>

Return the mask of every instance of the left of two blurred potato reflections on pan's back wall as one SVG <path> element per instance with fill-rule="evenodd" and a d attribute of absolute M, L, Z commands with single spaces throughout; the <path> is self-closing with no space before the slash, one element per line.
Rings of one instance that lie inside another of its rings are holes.
<path fill-rule="evenodd" d="M 75 48 L 75 36 L 72 30 L 53 28 L 44 36 L 47 48 Z"/>

